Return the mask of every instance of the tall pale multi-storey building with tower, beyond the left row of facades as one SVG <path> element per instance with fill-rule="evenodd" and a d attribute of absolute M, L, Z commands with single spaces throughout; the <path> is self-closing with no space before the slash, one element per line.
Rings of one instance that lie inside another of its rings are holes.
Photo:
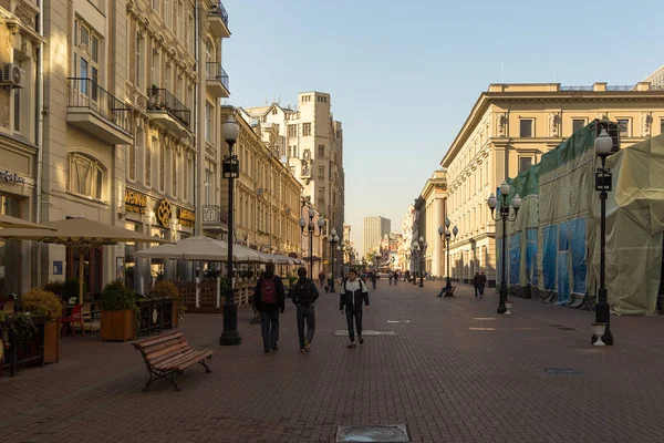
<path fill-rule="evenodd" d="M 323 92 L 301 92 L 298 105 L 279 103 L 243 110 L 256 124 L 273 125 L 278 136 L 276 153 L 303 186 L 328 222 L 328 233 L 343 233 L 345 176 L 343 169 L 343 128 L 333 119 L 331 96 Z"/>

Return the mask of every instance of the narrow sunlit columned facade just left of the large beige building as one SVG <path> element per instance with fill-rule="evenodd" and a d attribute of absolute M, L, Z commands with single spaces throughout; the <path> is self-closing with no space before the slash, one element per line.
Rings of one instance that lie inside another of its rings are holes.
<path fill-rule="evenodd" d="M 423 270 L 434 277 L 446 276 L 445 243 L 440 240 L 438 227 L 445 227 L 447 200 L 447 173 L 435 171 L 426 181 L 422 193 L 415 200 L 417 214 L 417 237 L 422 236 L 427 248 L 422 257 Z"/>

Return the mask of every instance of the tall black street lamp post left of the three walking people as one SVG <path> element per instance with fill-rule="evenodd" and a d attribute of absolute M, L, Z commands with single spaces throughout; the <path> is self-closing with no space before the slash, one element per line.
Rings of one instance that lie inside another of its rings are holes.
<path fill-rule="evenodd" d="M 221 346 L 238 346 L 242 342 L 238 331 L 238 308 L 235 303 L 235 288 L 232 285 L 232 233 L 234 233 L 234 181 L 240 175 L 240 162 L 232 153 L 232 146 L 238 138 L 240 128 L 235 122 L 232 114 L 221 126 L 226 143 L 228 143 L 228 155 L 224 156 L 222 176 L 228 178 L 228 288 L 226 288 L 226 300 L 224 301 L 224 332 L 219 337 Z"/>

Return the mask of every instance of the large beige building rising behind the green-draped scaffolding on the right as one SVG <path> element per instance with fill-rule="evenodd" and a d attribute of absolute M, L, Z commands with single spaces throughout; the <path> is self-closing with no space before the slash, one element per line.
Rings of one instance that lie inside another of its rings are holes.
<path fill-rule="evenodd" d="M 450 243 L 452 277 L 476 270 L 496 282 L 495 223 L 486 200 L 506 177 L 539 162 L 594 119 L 618 122 L 621 147 L 664 132 L 664 91 L 630 86 L 491 84 L 483 92 L 440 165 L 447 169 L 447 206 L 459 234 Z"/>

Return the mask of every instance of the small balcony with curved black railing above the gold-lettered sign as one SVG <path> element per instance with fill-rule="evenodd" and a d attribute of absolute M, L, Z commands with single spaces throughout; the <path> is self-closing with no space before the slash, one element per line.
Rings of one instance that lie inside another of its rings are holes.
<path fill-rule="evenodd" d="M 175 95 L 165 89 L 151 87 L 147 97 L 147 111 L 156 124 L 183 136 L 191 135 L 191 111 Z"/>

